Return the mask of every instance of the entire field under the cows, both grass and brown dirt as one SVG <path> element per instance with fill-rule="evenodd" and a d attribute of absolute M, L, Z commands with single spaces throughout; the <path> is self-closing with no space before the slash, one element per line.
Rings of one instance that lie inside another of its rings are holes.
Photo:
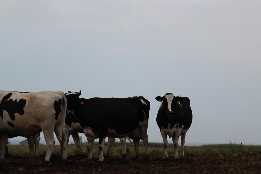
<path fill-rule="evenodd" d="M 83 145 L 87 149 L 87 144 Z M 261 173 L 261 146 L 185 146 L 185 157 L 174 160 L 173 145 L 169 144 L 169 158 L 162 160 L 162 143 L 149 143 L 150 157 L 145 159 L 140 142 L 139 159 L 132 160 L 131 144 L 127 143 L 127 157 L 123 159 L 120 143 L 115 142 L 110 157 L 98 162 L 97 145 L 94 144 L 94 159 L 88 160 L 75 145 L 70 144 L 65 161 L 61 160 L 61 149 L 56 145 L 50 162 L 44 161 L 45 146 L 39 147 L 39 157 L 29 157 L 28 146 L 8 145 L 10 156 L 0 161 L 0 173 Z"/>

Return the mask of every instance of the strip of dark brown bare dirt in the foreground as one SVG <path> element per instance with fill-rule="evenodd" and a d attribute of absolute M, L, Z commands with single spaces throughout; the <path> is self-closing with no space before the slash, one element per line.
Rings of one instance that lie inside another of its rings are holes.
<path fill-rule="evenodd" d="M 164 161 L 155 157 L 137 160 L 107 157 L 104 162 L 98 162 L 97 158 L 87 160 L 84 155 L 70 155 L 65 161 L 52 155 L 50 162 L 45 162 L 44 156 L 13 155 L 0 161 L 0 173 L 261 173 L 261 160 L 193 156 Z"/>

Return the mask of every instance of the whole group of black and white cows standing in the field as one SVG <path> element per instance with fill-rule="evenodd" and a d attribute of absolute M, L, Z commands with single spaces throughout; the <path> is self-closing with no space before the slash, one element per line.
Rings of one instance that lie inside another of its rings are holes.
<path fill-rule="evenodd" d="M 81 91 L 40 91 L 22 93 L 0 90 L 0 149 L 5 158 L 7 138 L 23 136 L 28 139 L 30 155 L 38 153 L 42 131 L 46 141 L 45 160 L 49 161 L 55 144 L 54 133 L 60 143 L 62 159 L 67 157 L 69 136 L 82 153 L 78 133 L 88 140 L 88 159 L 93 158 L 93 140 L 99 140 L 99 161 L 104 160 L 103 147 L 108 137 L 109 154 L 115 138 L 120 138 L 123 155 L 126 156 L 126 138 L 133 140 L 133 158 L 137 158 L 139 140 L 142 140 L 148 157 L 148 119 L 150 102 L 142 96 L 128 98 L 79 98 Z M 157 125 L 164 142 L 164 157 L 168 157 L 169 138 L 174 144 L 174 157 L 178 157 L 178 139 L 181 136 L 181 154 L 184 156 L 185 136 L 192 123 L 192 111 L 188 97 L 166 93 L 157 96 L 162 102 L 157 114 Z M 53 133 L 54 132 L 54 133 Z"/>

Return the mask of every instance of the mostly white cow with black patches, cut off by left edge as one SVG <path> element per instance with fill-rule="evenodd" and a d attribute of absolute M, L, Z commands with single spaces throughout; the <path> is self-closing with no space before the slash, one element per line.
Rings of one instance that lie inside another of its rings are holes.
<path fill-rule="evenodd" d="M 61 145 L 62 159 L 67 157 L 67 137 L 64 124 L 67 100 L 61 91 L 21 93 L 0 91 L 1 159 L 8 134 L 30 137 L 41 131 L 46 140 L 45 160 L 49 161 L 55 144 L 53 132 Z"/>

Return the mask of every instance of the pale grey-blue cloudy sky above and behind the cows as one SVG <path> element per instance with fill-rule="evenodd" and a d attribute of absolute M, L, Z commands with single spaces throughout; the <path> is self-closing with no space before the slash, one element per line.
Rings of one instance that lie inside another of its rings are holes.
<path fill-rule="evenodd" d="M 144 96 L 150 142 L 162 142 L 155 97 L 171 92 L 191 100 L 186 143 L 261 144 L 260 6 L 0 0 L 1 90 Z"/>

